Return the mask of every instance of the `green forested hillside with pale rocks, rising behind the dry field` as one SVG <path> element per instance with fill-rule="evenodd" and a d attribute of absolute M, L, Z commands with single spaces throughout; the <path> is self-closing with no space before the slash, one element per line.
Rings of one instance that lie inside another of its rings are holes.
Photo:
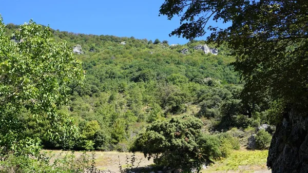
<path fill-rule="evenodd" d="M 7 25 L 8 34 L 17 29 Z M 224 45 L 215 55 L 197 50 L 204 41 L 169 45 L 134 37 L 52 32 L 56 41 L 65 40 L 77 50 L 86 75 L 82 86 L 71 85 L 71 102 L 60 108 L 74 118 L 78 136 L 61 134 L 61 139 L 51 140 L 50 122 L 37 123 L 26 110 L 21 115 L 25 133 L 40 138 L 45 148 L 127 150 L 156 120 L 188 114 L 203 120 L 203 131 L 213 132 L 273 124 L 273 112 L 279 110 L 279 105 L 269 109 L 240 99 L 243 81 L 233 69 L 232 50 Z"/>

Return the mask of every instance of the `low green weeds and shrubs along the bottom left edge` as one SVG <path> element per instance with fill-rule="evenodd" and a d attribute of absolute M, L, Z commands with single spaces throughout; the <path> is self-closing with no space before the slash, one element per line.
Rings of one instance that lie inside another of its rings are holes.
<path fill-rule="evenodd" d="M 79 157 L 76 157 L 73 151 L 61 152 L 58 157 L 51 155 L 51 153 L 42 153 L 37 159 L 10 155 L 0 161 L 0 172 L 101 172 L 94 167 L 94 164 L 94 153 L 90 156 L 86 152 L 83 152 Z"/>

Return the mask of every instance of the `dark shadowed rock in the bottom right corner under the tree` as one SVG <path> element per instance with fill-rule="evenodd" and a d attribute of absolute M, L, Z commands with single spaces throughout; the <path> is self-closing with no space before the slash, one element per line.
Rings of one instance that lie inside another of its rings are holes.
<path fill-rule="evenodd" d="M 294 109 L 283 117 L 269 147 L 267 166 L 274 173 L 308 172 L 308 117 Z"/>

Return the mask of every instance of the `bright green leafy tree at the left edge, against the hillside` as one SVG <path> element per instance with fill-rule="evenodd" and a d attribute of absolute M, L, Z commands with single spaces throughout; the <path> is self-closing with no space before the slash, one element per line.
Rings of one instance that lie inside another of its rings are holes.
<path fill-rule="evenodd" d="M 0 16 L 0 154 L 27 154 L 39 141 L 24 135 L 18 115 L 28 110 L 36 121 L 48 120 L 54 139 L 74 135 L 74 124 L 57 109 L 69 102 L 70 85 L 79 84 L 84 72 L 66 42 L 54 41 L 49 27 L 30 21 L 16 30 L 14 41 L 5 31 Z"/>

